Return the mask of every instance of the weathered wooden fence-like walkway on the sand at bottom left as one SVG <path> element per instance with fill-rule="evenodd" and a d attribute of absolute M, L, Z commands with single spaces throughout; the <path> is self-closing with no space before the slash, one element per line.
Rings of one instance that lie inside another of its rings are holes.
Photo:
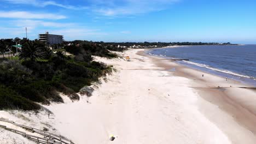
<path fill-rule="evenodd" d="M 43 131 L 43 130 L 39 130 L 39 129 L 32 128 L 32 127 L 27 127 L 26 125 L 17 124 L 13 121 L 9 121 L 9 120 L 3 119 L 3 118 L 0 118 L 0 121 L 5 122 L 5 123 L 13 124 L 17 127 L 25 129 L 25 131 L 29 131 L 31 133 L 37 133 L 37 134 L 41 135 L 42 137 L 34 136 L 34 135 L 31 135 L 31 134 L 26 134 L 24 131 L 8 128 L 5 125 L 0 125 L 0 128 L 3 128 L 5 130 L 11 131 L 13 133 L 22 135 L 22 136 L 26 137 L 27 139 L 32 140 L 36 143 L 40 143 L 40 144 L 41 143 L 42 144 L 60 144 L 60 143 L 74 144 L 74 142 L 72 142 L 71 140 L 69 140 L 66 137 L 63 137 L 61 135 L 55 135 L 53 133 L 49 133 L 48 131 Z"/>

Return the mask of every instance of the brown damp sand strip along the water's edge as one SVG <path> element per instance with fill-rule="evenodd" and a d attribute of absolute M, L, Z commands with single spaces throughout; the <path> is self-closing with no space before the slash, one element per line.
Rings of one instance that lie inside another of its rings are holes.
<path fill-rule="evenodd" d="M 182 64 L 170 62 L 168 61 L 168 59 L 148 55 L 148 53 L 146 52 L 138 54 L 156 59 L 156 65 L 164 67 L 165 70 L 170 70 L 175 67 L 176 70 L 173 73 L 176 76 L 182 76 L 194 80 L 191 85 L 195 85 L 195 87 L 193 87 L 195 89 L 195 92 L 198 93 L 202 98 L 202 100 L 199 101 L 200 112 L 202 112 L 203 115 L 205 115 L 210 121 L 214 122 L 214 124 L 216 124 L 220 129 L 222 129 L 222 131 L 229 137 L 232 142 L 236 143 L 238 141 L 236 139 L 237 134 L 246 137 L 246 135 L 244 134 L 246 133 L 246 131 L 247 134 L 251 136 L 251 141 L 248 142 L 256 140 L 256 113 L 254 112 L 254 110 L 256 110 L 256 106 L 253 105 L 256 102 L 255 98 L 253 98 L 253 95 L 256 95 L 256 89 L 236 88 L 248 87 L 250 85 L 236 80 L 228 80 L 228 82 L 226 82 L 225 77 L 186 67 Z M 165 62 L 161 63 L 159 61 Z M 206 80 L 206 78 L 202 77 L 201 74 L 213 78 L 207 78 Z M 220 83 L 225 84 L 221 86 Z M 232 85 L 232 87 L 222 88 L 229 87 L 229 85 Z M 218 88 L 218 86 L 220 86 L 220 88 Z M 209 106 L 202 101 L 207 101 L 207 103 L 211 103 L 214 106 Z M 211 113 L 209 111 L 218 112 Z M 224 119 L 220 121 L 218 118 Z M 234 121 L 232 122 L 232 120 Z M 232 127 L 235 126 L 236 128 L 238 128 L 238 126 L 241 126 L 240 131 L 234 130 L 234 128 L 228 128 L 227 124 L 232 125 Z M 237 143 L 243 142 L 239 141 Z"/>

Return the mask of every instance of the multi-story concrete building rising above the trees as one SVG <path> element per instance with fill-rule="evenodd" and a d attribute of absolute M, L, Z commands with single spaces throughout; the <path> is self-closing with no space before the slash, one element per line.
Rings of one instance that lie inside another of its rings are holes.
<path fill-rule="evenodd" d="M 49 32 L 46 32 L 45 34 L 39 34 L 38 39 L 50 45 L 61 44 L 63 42 L 63 35 L 49 34 Z"/>

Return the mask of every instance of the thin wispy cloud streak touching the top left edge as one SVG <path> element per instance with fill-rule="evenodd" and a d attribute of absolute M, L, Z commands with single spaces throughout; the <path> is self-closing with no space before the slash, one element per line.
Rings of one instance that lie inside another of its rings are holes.
<path fill-rule="evenodd" d="M 74 5 L 64 5 L 61 3 L 57 3 L 55 1 L 40 1 L 40 0 L 4 0 L 9 3 L 13 4 L 29 4 L 34 5 L 35 7 L 46 7 L 48 5 L 54 5 L 56 7 L 66 8 L 66 9 L 73 9 L 73 10 L 82 10 L 88 9 L 88 7 L 78 7 Z"/>

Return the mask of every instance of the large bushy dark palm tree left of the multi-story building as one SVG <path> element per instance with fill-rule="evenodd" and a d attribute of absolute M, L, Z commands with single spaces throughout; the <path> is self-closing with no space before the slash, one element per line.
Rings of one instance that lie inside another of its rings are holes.
<path fill-rule="evenodd" d="M 38 58 L 44 58 L 44 45 L 42 43 L 28 41 L 22 46 L 19 57 L 20 59 L 30 59 L 31 61 L 36 61 Z"/>

